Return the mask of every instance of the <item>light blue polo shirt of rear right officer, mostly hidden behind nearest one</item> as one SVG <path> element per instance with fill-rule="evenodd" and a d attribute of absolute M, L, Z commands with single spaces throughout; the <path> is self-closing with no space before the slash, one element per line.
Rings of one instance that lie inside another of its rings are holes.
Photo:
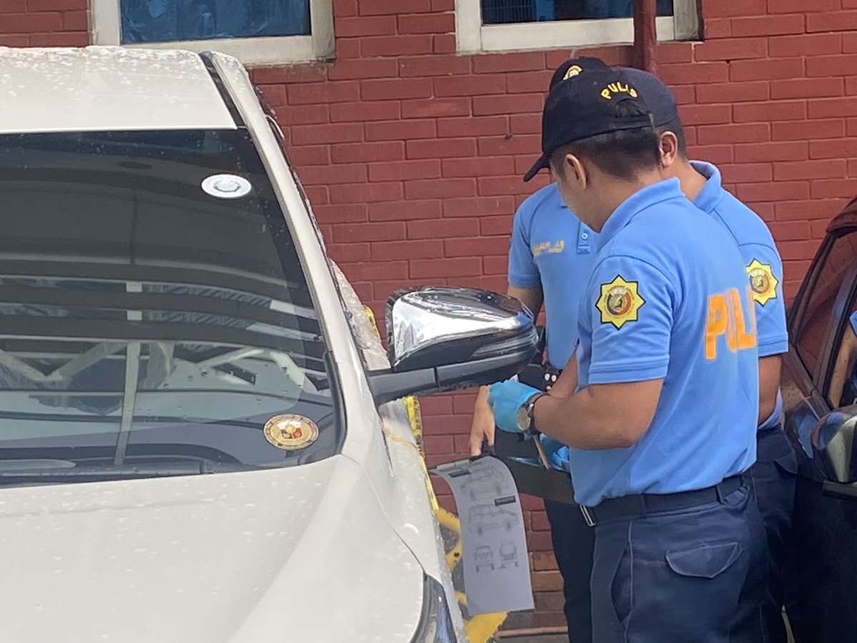
<path fill-rule="evenodd" d="M 758 356 L 766 358 L 788 352 L 782 260 L 776 251 L 774 237 L 757 213 L 723 189 L 720 171 L 714 165 L 701 161 L 691 163 L 693 169 L 706 179 L 703 189 L 693 200 L 694 205 L 726 226 L 744 259 L 755 302 Z M 775 427 L 781 418 L 782 397 L 777 394 L 774 412 L 759 426 L 759 430 Z"/>

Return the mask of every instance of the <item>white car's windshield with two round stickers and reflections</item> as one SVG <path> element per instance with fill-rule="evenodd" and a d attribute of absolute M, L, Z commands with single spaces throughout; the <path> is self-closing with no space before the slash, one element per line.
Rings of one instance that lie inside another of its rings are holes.
<path fill-rule="evenodd" d="M 0 484 L 339 448 L 336 382 L 246 129 L 0 136 Z"/>

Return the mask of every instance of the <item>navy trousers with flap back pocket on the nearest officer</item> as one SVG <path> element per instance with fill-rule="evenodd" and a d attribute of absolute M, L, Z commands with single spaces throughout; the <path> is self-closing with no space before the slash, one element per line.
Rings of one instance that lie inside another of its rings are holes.
<path fill-rule="evenodd" d="M 593 643 L 765 641 L 766 539 L 747 487 L 595 533 Z"/>

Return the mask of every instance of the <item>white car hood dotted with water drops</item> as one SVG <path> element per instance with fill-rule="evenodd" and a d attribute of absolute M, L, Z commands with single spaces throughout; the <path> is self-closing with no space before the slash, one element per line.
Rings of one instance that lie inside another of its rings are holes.
<path fill-rule="evenodd" d="M 410 641 L 423 571 L 357 464 L 0 488 L 0 640 Z"/>

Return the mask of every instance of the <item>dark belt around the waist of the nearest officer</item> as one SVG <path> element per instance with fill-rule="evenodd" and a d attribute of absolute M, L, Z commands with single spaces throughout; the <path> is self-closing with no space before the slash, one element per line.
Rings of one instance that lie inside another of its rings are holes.
<path fill-rule="evenodd" d="M 730 476 L 720 484 L 694 491 L 682 491 L 674 494 L 634 494 L 620 498 L 609 498 L 595 507 L 579 505 L 586 524 L 595 526 L 597 522 L 610 518 L 637 518 L 647 514 L 664 511 L 677 511 L 717 502 L 740 487 L 745 486 L 744 476 Z"/>

